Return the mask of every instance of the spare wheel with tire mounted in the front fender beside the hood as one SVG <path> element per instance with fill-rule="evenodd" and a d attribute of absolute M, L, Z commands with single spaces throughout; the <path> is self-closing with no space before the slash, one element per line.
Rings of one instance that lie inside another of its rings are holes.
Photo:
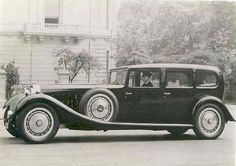
<path fill-rule="evenodd" d="M 118 100 L 108 89 L 90 89 L 80 100 L 79 112 L 92 119 L 113 122 L 119 112 Z"/>

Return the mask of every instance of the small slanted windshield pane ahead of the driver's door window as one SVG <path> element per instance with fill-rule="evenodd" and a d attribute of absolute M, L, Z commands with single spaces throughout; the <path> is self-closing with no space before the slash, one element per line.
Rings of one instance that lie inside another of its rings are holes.
<path fill-rule="evenodd" d="M 111 71 L 110 84 L 112 85 L 125 85 L 127 69 L 119 69 Z"/>

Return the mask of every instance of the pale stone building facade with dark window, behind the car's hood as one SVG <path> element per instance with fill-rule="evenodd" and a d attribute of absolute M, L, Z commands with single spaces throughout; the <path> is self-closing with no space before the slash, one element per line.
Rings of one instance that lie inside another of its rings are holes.
<path fill-rule="evenodd" d="M 20 84 L 60 83 L 56 49 L 86 50 L 99 68 L 81 71 L 74 84 L 107 79 L 115 54 L 112 0 L 2 0 L 0 65 L 14 60 Z M 65 83 L 65 81 L 63 81 Z"/>

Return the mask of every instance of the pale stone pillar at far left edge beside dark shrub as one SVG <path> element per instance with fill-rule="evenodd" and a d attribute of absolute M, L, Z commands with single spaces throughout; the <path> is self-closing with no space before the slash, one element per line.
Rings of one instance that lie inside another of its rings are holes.
<path fill-rule="evenodd" d="M 0 69 L 0 110 L 5 103 L 6 97 L 6 73 Z"/>

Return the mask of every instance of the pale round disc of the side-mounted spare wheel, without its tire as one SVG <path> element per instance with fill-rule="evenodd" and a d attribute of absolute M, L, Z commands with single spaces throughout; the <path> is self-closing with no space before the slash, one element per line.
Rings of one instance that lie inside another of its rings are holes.
<path fill-rule="evenodd" d="M 87 115 L 94 119 L 109 121 L 114 112 L 111 99 L 104 94 L 91 97 L 87 104 Z"/>

